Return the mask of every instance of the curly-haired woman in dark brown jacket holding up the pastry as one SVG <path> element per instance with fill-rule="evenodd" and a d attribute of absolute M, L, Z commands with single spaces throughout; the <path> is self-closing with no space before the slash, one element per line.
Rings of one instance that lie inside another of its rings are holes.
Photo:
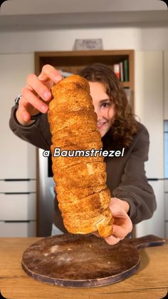
<path fill-rule="evenodd" d="M 117 151 L 125 148 L 124 156 L 105 158 L 107 187 L 112 196 L 110 209 L 114 218 L 113 233 L 105 240 L 113 245 L 131 232 L 132 223 L 152 217 L 156 208 L 144 166 L 148 158 L 149 134 L 145 126 L 135 121 L 125 91 L 111 69 L 103 64 L 93 64 L 80 71 L 80 75 L 90 84 L 103 149 Z M 50 89 L 61 79 L 61 74 L 50 65 L 43 66 L 38 77 L 28 75 L 19 104 L 11 112 L 11 130 L 45 150 L 50 150 L 51 146 L 46 114 L 48 101 L 52 98 Z M 54 223 L 61 231 L 66 231 L 57 200 Z"/>

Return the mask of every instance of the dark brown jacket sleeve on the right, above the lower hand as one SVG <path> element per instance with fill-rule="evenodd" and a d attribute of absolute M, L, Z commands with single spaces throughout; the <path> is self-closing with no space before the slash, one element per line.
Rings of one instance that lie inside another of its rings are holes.
<path fill-rule="evenodd" d="M 149 133 L 145 128 L 127 159 L 120 185 L 112 192 L 113 197 L 130 203 L 128 215 L 133 224 L 151 218 L 157 206 L 154 191 L 145 175 L 148 151 Z"/>

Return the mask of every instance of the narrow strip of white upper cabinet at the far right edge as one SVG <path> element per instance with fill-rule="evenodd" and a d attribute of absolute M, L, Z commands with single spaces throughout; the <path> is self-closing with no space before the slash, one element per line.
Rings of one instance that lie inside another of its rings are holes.
<path fill-rule="evenodd" d="M 164 51 L 164 119 L 168 120 L 168 51 Z"/>

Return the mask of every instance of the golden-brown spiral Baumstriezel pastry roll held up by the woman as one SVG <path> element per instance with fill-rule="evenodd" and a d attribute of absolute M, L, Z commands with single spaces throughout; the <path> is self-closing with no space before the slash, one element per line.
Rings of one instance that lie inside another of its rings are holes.
<path fill-rule="evenodd" d="M 52 88 L 48 121 L 52 154 L 60 151 L 91 151 L 103 147 L 97 128 L 88 81 L 69 76 Z M 52 157 L 58 205 L 70 233 L 91 233 L 102 237 L 112 233 L 110 191 L 102 156 Z"/>

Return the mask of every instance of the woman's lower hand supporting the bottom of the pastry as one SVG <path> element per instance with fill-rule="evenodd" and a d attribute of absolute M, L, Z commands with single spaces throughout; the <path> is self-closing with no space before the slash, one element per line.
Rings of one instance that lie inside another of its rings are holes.
<path fill-rule="evenodd" d="M 132 221 L 127 215 L 130 205 L 127 203 L 127 201 L 122 201 L 119 198 L 111 198 L 109 207 L 112 211 L 114 222 L 112 235 L 110 235 L 108 238 L 105 238 L 105 240 L 108 244 L 115 245 L 132 231 Z M 100 236 L 97 232 L 94 234 Z"/>

